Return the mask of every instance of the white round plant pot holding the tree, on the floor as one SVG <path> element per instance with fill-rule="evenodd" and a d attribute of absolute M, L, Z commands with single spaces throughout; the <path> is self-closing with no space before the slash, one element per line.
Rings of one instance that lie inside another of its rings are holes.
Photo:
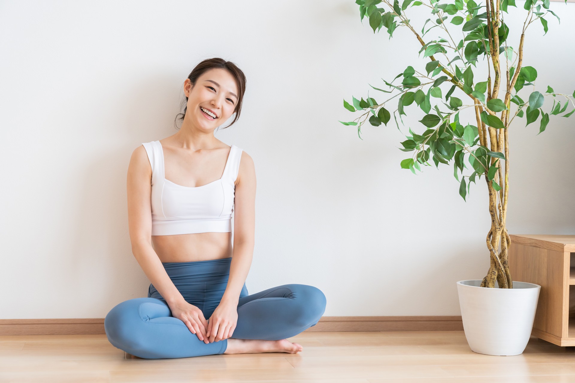
<path fill-rule="evenodd" d="M 540 285 L 513 281 L 512 289 L 458 281 L 463 331 L 471 350 L 486 355 L 519 355 L 531 336 Z"/>

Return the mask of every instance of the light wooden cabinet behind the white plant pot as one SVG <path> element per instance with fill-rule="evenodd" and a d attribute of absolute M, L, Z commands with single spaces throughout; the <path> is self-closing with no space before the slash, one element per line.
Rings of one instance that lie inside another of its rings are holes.
<path fill-rule="evenodd" d="M 575 346 L 575 235 L 509 234 L 513 281 L 541 286 L 531 334 Z"/>

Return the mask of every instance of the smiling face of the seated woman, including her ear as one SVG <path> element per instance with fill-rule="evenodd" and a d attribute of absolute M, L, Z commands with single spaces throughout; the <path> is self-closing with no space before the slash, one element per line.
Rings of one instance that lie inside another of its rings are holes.
<path fill-rule="evenodd" d="M 214 68 L 206 71 L 193 88 L 190 80 L 186 79 L 184 93 L 188 98 L 185 118 L 193 125 L 196 125 L 194 122 L 197 121 L 198 126 L 205 129 L 220 126 L 236 109 L 237 84 L 225 69 Z"/>

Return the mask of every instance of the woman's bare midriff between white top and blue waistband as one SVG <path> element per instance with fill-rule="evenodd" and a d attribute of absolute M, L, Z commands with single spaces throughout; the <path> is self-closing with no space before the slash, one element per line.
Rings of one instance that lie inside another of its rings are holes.
<path fill-rule="evenodd" d="M 152 245 L 162 262 L 219 260 L 232 256 L 232 233 L 152 235 Z"/>

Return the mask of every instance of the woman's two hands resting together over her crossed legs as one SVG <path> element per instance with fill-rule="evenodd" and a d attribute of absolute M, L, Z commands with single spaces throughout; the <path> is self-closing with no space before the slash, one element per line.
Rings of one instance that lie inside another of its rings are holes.
<path fill-rule="evenodd" d="M 220 302 L 209 323 L 197 306 L 185 300 L 170 305 L 174 318 L 181 320 L 204 343 L 218 342 L 232 336 L 237 324 L 237 304 Z"/>

